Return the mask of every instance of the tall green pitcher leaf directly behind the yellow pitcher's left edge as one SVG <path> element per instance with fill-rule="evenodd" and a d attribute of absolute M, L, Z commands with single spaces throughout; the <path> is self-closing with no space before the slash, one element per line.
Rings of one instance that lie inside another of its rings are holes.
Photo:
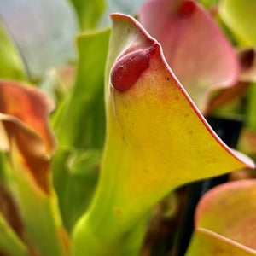
<path fill-rule="evenodd" d="M 61 146 L 102 148 L 105 135 L 104 69 L 109 35 L 110 30 L 105 30 L 81 34 L 77 38 L 79 64 L 75 84 L 53 120 Z"/>

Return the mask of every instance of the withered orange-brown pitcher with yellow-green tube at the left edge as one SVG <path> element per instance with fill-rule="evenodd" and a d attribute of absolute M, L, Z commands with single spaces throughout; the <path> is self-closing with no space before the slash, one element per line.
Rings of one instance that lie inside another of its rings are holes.
<path fill-rule="evenodd" d="M 64 256 L 68 239 L 49 172 L 55 150 L 55 137 L 48 125 L 53 107 L 53 102 L 32 86 L 0 81 L 0 120 L 9 140 L 24 225 L 40 253 Z M 46 240 L 49 234 L 51 239 Z"/>

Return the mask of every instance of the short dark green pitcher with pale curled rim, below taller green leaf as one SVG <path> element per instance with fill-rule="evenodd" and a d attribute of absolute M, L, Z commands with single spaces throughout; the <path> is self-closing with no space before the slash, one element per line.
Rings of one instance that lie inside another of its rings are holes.
<path fill-rule="evenodd" d="M 75 149 L 60 148 L 53 159 L 55 190 L 63 223 L 71 231 L 84 214 L 96 189 L 102 150 L 79 154 Z"/>

